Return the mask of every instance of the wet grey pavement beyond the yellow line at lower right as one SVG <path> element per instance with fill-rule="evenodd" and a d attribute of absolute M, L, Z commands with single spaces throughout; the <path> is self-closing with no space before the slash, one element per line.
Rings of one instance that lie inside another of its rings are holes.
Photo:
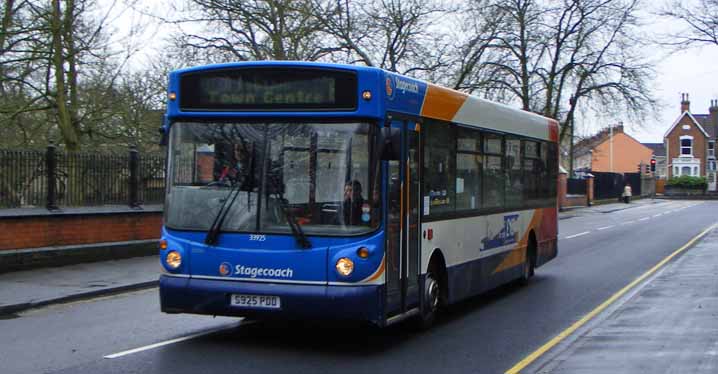
<path fill-rule="evenodd" d="M 718 226 L 523 372 L 718 373 Z"/>

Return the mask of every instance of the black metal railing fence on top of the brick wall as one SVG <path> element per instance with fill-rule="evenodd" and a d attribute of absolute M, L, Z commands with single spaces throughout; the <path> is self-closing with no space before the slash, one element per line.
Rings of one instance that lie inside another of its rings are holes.
<path fill-rule="evenodd" d="M 161 204 L 165 155 L 0 149 L 0 208 Z"/>

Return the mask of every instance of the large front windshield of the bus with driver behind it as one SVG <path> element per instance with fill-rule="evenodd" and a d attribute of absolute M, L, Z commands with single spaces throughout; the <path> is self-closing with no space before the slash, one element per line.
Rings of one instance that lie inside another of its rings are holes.
<path fill-rule="evenodd" d="M 357 235 L 381 217 L 375 125 L 368 123 L 199 123 L 171 127 L 165 222 L 210 228 L 239 190 L 223 232 Z"/>

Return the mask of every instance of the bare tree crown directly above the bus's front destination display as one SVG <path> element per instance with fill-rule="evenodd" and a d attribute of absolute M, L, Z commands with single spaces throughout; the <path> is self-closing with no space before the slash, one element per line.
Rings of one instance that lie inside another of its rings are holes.
<path fill-rule="evenodd" d="M 330 53 L 310 0 L 189 0 L 178 19 L 167 22 L 202 26 L 186 31 L 174 44 L 206 61 L 317 60 Z"/>

